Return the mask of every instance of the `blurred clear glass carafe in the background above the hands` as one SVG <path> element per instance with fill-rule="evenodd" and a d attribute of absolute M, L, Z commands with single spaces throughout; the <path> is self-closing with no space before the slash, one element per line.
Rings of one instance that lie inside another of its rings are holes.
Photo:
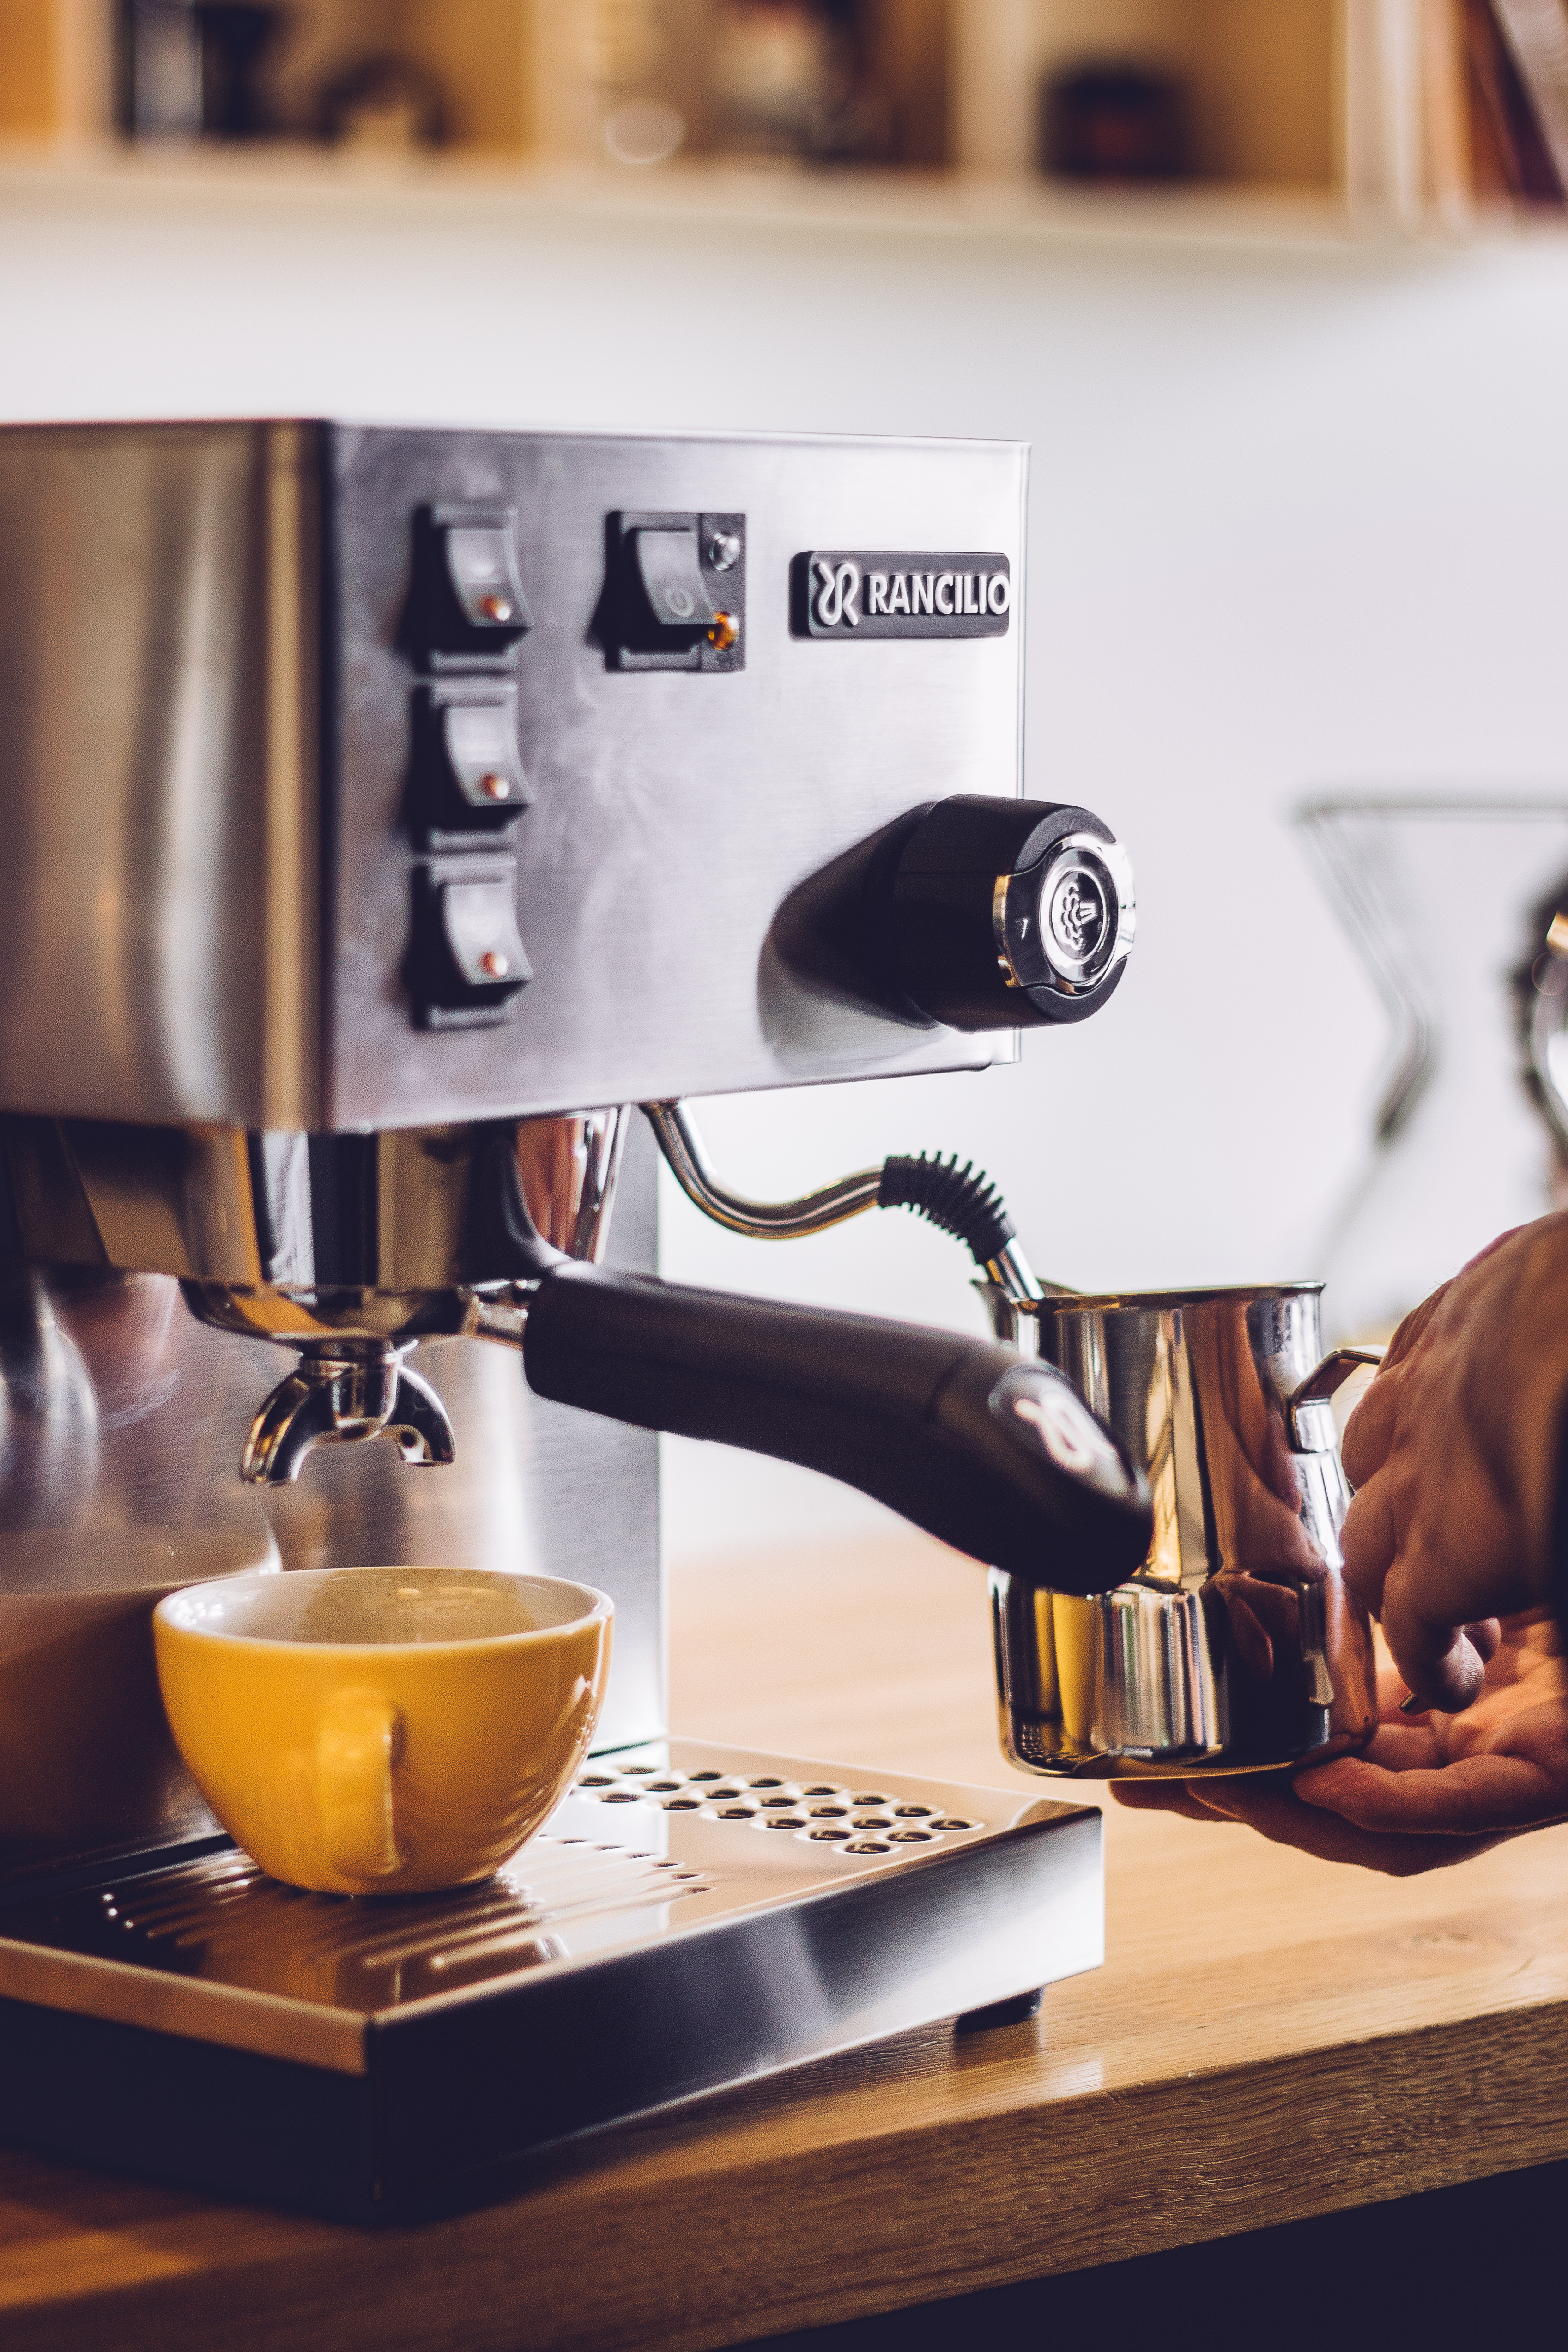
<path fill-rule="evenodd" d="M 1568 1190 L 1568 795 L 1326 800 L 1298 823 L 1392 1018 L 1373 1141 L 1314 1263 L 1326 1338 L 1385 1338 Z"/>

